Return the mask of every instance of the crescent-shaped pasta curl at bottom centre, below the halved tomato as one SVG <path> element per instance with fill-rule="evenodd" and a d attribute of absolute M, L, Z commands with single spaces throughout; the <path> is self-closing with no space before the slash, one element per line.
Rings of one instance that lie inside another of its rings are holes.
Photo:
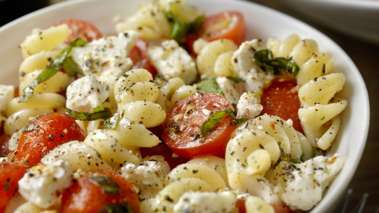
<path fill-rule="evenodd" d="M 204 180 L 213 191 L 224 189 L 226 186 L 224 179 L 214 169 L 197 163 L 183 163 L 173 168 L 165 179 L 165 185 L 187 177 Z"/>

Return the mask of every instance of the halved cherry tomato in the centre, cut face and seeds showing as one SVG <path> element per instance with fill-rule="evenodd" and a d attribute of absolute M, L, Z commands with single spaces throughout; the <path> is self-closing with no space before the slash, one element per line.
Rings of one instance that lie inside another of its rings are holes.
<path fill-rule="evenodd" d="M 186 159 L 205 155 L 224 158 L 226 143 L 234 130 L 234 126 L 230 125 L 232 118 L 225 114 L 221 123 L 203 142 L 200 142 L 200 126 L 210 115 L 225 109 L 233 107 L 221 95 L 191 95 L 179 101 L 167 113 L 162 125 L 162 139 L 174 152 Z"/>

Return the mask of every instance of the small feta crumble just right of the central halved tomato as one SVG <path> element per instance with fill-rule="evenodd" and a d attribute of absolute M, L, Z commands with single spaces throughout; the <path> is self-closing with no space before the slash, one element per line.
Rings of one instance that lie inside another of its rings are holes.
<path fill-rule="evenodd" d="M 258 91 L 262 90 L 258 89 Z M 237 104 L 237 117 L 248 119 L 257 117 L 263 109 L 263 106 L 260 104 L 260 96 L 259 92 L 244 92 Z"/>

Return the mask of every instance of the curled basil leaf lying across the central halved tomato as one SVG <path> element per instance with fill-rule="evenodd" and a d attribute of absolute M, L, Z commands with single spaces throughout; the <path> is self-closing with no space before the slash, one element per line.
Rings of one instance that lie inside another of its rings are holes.
<path fill-rule="evenodd" d="M 212 133 L 217 128 L 225 113 L 233 119 L 233 121 L 230 123 L 231 125 L 238 125 L 249 120 L 247 118 L 236 118 L 232 109 L 225 109 L 223 111 L 217 112 L 216 114 L 210 116 L 208 120 L 200 126 L 200 142 L 203 142 L 204 139 L 206 139 L 208 135 L 210 135 L 210 133 Z"/>

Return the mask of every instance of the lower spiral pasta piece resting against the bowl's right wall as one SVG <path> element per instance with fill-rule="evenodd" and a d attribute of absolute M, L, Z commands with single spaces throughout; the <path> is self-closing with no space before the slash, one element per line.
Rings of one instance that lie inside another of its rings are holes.
<path fill-rule="evenodd" d="M 334 96 L 344 85 L 344 74 L 331 73 L 314 78 L 299 89 L 298 96 L 304 108 L 299 109 L 298 115 L 305 135 L 315 147 L 329 148 L 338 133 L 341 124 L 338 115 L 345 110 L 347 100 Z"/>

